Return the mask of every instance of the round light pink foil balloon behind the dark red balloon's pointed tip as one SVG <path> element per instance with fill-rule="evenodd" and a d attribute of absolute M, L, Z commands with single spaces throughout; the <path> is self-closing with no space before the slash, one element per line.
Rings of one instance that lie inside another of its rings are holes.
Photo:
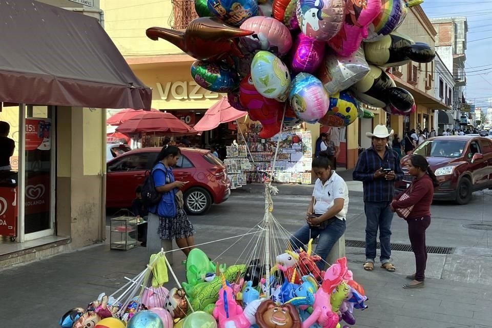
<path fill-rule="evenodd" d="M 272 17 L 251 17 L 241 24 L 241 29 L 254 31 L 252 35 L 240 38 L 243 48 L 250 52 L 265 50 L 283 56 L 292 47 L 289 29 Z"/>

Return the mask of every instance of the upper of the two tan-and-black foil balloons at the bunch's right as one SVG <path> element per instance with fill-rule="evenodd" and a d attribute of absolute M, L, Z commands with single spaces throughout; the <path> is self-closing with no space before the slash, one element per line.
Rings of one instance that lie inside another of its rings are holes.
<path fill-rule="evenodd" d="M 425 43 L 415 43 L 411 38 L 399 33 L 383 36 L 377 42 L 364 43 L 367 62 L 382 67 L 401 66 L 412 60 L 417 63 L 430 63 L 436 52 Z"/>

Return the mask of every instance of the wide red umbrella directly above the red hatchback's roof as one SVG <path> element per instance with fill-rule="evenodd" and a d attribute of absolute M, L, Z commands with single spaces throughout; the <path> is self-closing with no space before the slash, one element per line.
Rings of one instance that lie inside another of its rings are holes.
<path fill-rule="evenodd" d="M 154 133 L 157 135 L 198 133 L 173 114 L 163 112 L 146 112 L 134 116 L 117 127 L 116 132 L 126 134 Z"/>

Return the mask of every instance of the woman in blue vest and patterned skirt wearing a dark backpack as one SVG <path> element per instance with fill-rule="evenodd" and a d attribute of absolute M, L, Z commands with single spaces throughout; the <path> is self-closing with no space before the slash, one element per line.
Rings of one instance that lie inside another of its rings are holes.
<path fill-rule="evenodd" d="M 162 240 L 165 239 L 176 239 L 176 244 L 187 257 L 195 246 L 195 230 L 182 207 L 182 193 L 179 191 L 187 182 L 175 181 L 172 169 L 180 155 L 179 148 L 166 145 L 157 155 L 152 169 L 155 191 L 160 194 L 160 199 L 158 203 L 149 207 L 149 255 L 160 252 Z"/>

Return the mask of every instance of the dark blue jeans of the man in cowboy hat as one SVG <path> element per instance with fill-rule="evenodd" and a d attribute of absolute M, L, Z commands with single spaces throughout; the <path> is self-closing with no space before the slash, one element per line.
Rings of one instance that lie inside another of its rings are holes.
<path fill-rule="evenodd" d="M 391 258 L 391 221 L 393 212 L 389 209 L 389 201 L 364 202 L 366 217 L 365 226 L 365 258 L 373 262 L 376 258 L 376 238 L 379 228 L 379 242 L 381 244 L 381 264 L 389 262 Z"/>

